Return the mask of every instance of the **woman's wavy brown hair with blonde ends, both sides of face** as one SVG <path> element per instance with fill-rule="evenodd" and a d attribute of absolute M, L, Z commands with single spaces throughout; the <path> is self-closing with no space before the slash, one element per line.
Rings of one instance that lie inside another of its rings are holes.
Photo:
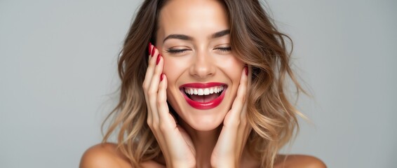
<path fill-rule="evenodd" d="M 156 41 L 159 12 L 167 1 L 146 0 L 130 27 L 119 57 L 121 78 L 119 104 L 107 116 L 112 118 L 103 142 L 119 131 L 118 147 L 133 167 L 161 155 L 147 125 L 147 106 L 142 83 L 147 69 L 148 43 Z M 262 167 L 273 167 L 276 154 L 298 130 L 301 115 L 285 94 L 287 79 L 302 91 L 290 68 L 285 38 L 257 0 L 224 0 L 234 55 L 252 67 L 248 92 L 248 122 L 253 127 L 246 148 Z M 292 43 L 292 41 L 291 41 Z M 104 122 L 104 124 L 105 124 Z M 103 128 L 104 125 L 102 125 Z"/>

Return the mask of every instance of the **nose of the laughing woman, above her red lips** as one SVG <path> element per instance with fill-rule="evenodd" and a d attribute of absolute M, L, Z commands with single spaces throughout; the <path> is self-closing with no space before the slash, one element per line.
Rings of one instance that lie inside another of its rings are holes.
<path fill-rule="evenodd" d="M 208 78 L 215 74 L 215 62 L 206 52 L 197 52 L 194 57 L 194 62 L 189 69 L 191 76 L 196 78 Z"/>

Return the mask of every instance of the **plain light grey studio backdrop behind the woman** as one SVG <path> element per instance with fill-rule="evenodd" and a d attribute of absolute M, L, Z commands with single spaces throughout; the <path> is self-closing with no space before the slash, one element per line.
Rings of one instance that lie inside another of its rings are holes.
<path fill-rule="evenodd" d="M 101 141 L 138 3 L 0 0 L 0 167 L 78 167 Z M 311 123 L 290 153 L 397 167 L 397 1 L 268 4 L 313 94 L 297 103 Z"/>

